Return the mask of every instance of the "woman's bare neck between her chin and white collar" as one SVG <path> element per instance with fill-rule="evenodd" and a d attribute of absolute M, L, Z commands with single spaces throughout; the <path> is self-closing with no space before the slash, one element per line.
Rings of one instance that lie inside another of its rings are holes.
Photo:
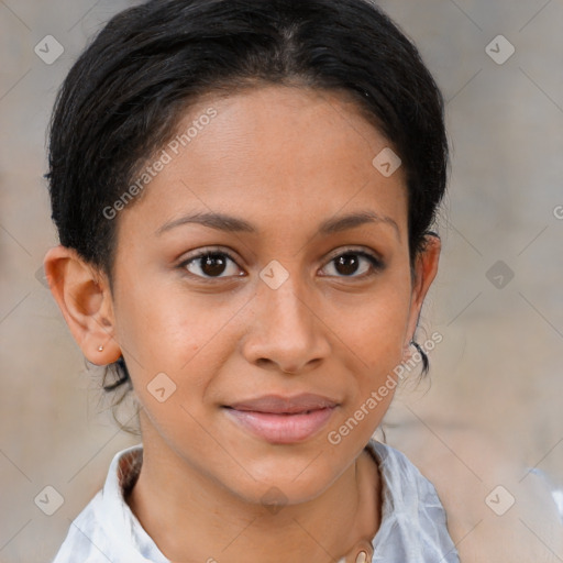
<path fill-rule="evenodd" d="M 371 543 L 379 528 L 379 474 L 366 451 L 314 499 L 266 510 L 143 437 L 143 465 L 128 504 L 173 562 L 328 563 L 362 540 Z"/>

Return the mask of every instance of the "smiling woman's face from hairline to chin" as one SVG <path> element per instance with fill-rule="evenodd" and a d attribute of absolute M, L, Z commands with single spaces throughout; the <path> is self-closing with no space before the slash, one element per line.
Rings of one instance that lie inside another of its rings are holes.
<path fill-rule="evenodd" d="M 305 501 L 379 424 L 393 393 L 372 393 L 404 358 L 437 252 L 413 286 L 402 169 L 374 166 L 388 143 L 340 96 L 209 98 L 178 132 L 115 219 L 114 335 L 145 446 L 241 498 Z M 334 407 L 232 408 L 300 394 Z"/>

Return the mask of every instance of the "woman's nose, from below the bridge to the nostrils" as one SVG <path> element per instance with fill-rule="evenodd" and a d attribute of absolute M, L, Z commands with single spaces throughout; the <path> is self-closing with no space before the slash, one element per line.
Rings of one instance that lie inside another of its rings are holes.
<path fill-rule="evenodd" d="M 330 330 L 322 322 L 320 298 L 296 280 L 291 274 L 277 289 L 260 283 L 242 346 L 253 365 L 300 374 L 329 356 Z"/>

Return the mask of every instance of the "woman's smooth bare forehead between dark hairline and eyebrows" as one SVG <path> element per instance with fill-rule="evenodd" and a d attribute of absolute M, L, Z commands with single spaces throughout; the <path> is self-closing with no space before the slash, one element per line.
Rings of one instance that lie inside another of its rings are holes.
<path fill-rule="evenodd" d="M 272 225 L 369 207 L 405 228 L 402 170 L 385 177 L 373 163 L 388 145 L 341 93 L 268 86 L 209 95 L 150 161 L 158 172 L 131 216 L 158 229 L 189 210 L 236 210 Z"/>

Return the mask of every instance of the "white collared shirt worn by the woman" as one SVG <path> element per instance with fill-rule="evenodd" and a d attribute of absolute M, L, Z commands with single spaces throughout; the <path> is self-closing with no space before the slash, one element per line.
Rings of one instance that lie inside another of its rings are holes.
<path fill-rule="evenodd" d="M 405 454 L 371 440 L 382 475 L 382 522 L 373 562 L 459 563 L 433 485 Z M 118 452 L 103 488 L 70 525 L 52 563 L 170 563 L 124 500 L 142 464 L 142 444 Z"/>

